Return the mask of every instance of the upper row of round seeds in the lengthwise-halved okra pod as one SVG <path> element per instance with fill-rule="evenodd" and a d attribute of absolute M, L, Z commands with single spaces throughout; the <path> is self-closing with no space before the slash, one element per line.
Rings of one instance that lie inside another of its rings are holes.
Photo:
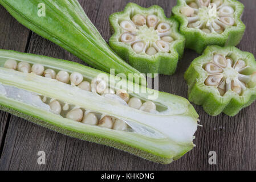
<path fill-rule="evenodd" d="M 128 106 L 133 107 L 135 109 L 140 109 L 143 111 L 155 111 L 156 105 L 152 101 L 146 101 L 142 103 L 142 101 L 137 97 L 129 97 L 129 94 L 126 92 L 126 90 L 120 89 L 115 92 L 115 90 L 108 88 L 107 83 L 105 80 L 101 78 L 94 78 L 92 79 L 91 83 L 88 81 L 83 81 L 83 75 L 78 72 L 73 72 L 71 75 L 66 71 L 59 71 L 57 74 L 54 71 L 54 69 L 48 68 L 44 69 L 44 66 L 42 64 L 33 64 L 32 67 L 29 63 L 21 61 L 17 63 L 16 60 L 9 59 L 6 60 L 4 64 L 5 68 L 18 70 L 20 72 L 24 73 L 31 73 L 34 72 L 36 75 L 44 76 L 47 78 L 56 79 L 58 81 L 64 82 L 68 84 L 69 82 L 73 86 L 78 86 L 80 89 L 96 92 L 98 94 L 116 94 L 116 96 L 119 96 L 122 100 L 127 102 Z M 44 98 L 43 98 L 44 99 Z"/>

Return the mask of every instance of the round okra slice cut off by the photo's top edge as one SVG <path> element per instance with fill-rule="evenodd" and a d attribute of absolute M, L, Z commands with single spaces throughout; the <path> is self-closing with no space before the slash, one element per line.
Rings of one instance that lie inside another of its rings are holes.
<path fill-rule="evenodd" d="M 236 46 L 245 32 L 244 6 L 236 0 L 177 0 L 172 9 L 185 35 L 186 48 L 202 53 L 206 46 Z"/>

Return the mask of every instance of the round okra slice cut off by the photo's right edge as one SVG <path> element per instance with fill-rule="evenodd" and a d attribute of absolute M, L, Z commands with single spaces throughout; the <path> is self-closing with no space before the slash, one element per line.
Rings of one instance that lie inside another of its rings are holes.
<path fill-rule="evenodd" d="M 189 100 L 206 113 L 233 116 L 256 98 L 256 61 L 253 54 L 227 46 L 209 46 L 185 73 Z"/>

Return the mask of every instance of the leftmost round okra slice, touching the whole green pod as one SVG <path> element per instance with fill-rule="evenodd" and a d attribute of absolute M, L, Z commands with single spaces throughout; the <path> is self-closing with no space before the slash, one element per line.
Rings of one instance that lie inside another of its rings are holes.
<path fill-rule="evenodd" d="M 185 38 L 178 23 L 166 18 L 160 6 L 143 8 L 128 3 L 124 11 L 109 17 L 112 49 L 143 73 L 172 75 L 182 56 Z"/>

